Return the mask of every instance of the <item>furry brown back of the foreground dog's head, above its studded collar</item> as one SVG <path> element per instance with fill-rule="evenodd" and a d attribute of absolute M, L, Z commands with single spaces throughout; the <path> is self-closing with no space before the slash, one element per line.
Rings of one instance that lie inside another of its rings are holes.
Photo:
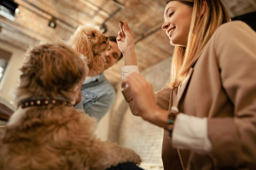
<path fill-rule="evenodd" d="M 20 88 L 38 88 L 45 93 L 72 90 L 87 75 L 80 54 L 63 43 L 32 48 L 20 71 Z"/>

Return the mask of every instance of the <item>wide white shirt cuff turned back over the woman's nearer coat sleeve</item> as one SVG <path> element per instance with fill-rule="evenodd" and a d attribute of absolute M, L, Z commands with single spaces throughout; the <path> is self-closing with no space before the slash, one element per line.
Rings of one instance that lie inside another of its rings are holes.
<path fill-rule="evenodd" d="M 179 114 L 173 127 L 172 146 L 202 154 L 209 153 L 212 144 L 207 134 L 207 118 Z"/>

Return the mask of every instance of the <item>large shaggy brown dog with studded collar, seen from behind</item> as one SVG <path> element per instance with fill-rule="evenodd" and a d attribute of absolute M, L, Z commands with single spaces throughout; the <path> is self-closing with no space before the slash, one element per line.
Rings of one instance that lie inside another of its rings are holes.
<path fill-rule="evenodd" d="M 87 68 L 72 48 L 38 45 L 20 71 L 20 107 L 0 128 L 1 170 L 103 170 L 140 163 L 133 150 L 96 139 L 96 119 L 73 109 Z"/>

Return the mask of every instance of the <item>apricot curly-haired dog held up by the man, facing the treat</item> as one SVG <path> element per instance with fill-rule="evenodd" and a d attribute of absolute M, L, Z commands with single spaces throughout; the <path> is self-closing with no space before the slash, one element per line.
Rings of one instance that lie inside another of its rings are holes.
<path fill-rule="evenodd" d="M 109 48 L 108 37 L 105 37 L 98 26 L 87 24 L 79 26 L 69 40 L 72 48 L 87 58 L 88 76 L 95 77 L 105 70 L 106 59 L 102 52 Z"/>

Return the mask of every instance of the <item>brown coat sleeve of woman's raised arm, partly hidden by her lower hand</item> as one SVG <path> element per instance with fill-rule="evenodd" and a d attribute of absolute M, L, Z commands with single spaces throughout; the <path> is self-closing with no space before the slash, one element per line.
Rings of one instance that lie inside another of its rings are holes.
<path fill-rule="evenodd" d="M 156 92 L 154 94 L 154 99 L 157 105 L 160 106 L 160 108 L 164 110 L 168 110 L 169 108 L 169 100 L 170 100 L 170 93 L 171 93 L 171 88 L 163 88 L 160 91 Z M 134 116 L 139 116 L 139 112 L 137 111 L 137 107 L 135 103 L 133 102 L 133 97 L 131 95 L 131 89 L 125 88 L 122 91 L 122 94 L 125 97 L 125 101 L 128 103 L 131 113 Z"/>

